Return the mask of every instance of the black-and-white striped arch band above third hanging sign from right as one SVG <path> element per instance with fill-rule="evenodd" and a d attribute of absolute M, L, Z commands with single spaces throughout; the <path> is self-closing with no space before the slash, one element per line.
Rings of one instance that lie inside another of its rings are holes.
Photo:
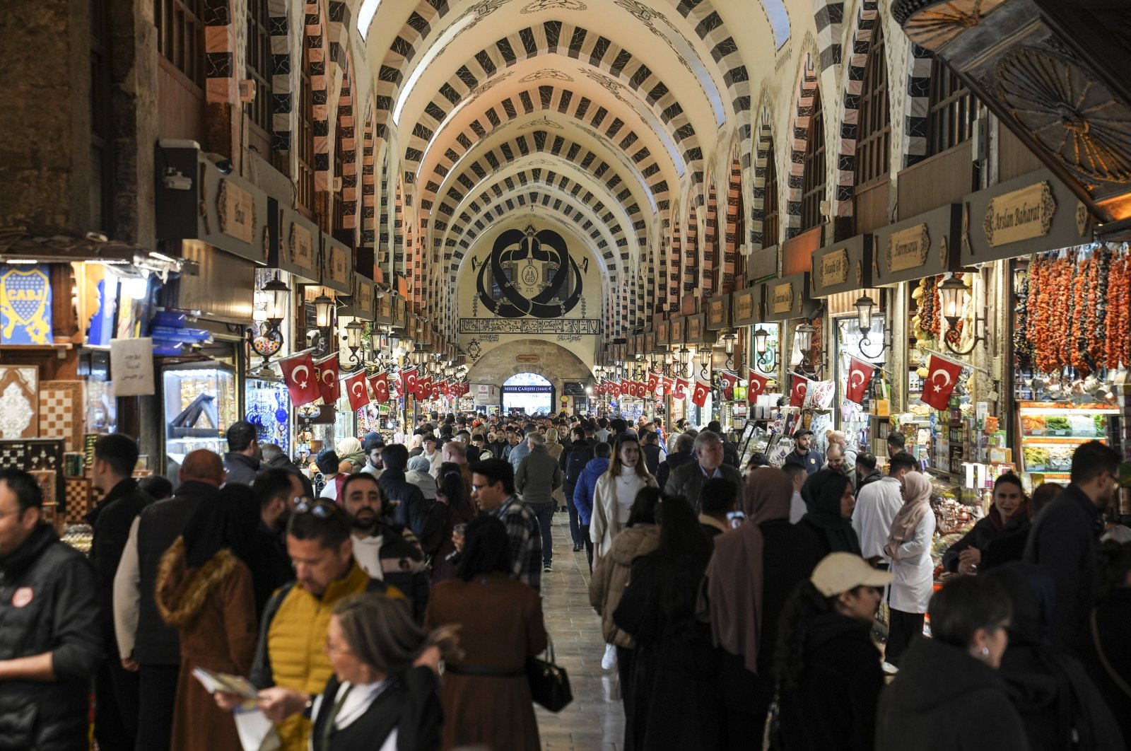
<path fill-rule="evenodd" d="M 852 54 L 845 66 L 840 96 L 840 130 L 837 137 L 836 185 L 832 191 L 832 216 L 853 214 L 856 185 L 856 140 L 860 127 L 860 101 L 864 85 L 864 68 L 872 49 L 872 37 L 880 23 L 878 0 L 861 0 L 852 28 Z"/>

